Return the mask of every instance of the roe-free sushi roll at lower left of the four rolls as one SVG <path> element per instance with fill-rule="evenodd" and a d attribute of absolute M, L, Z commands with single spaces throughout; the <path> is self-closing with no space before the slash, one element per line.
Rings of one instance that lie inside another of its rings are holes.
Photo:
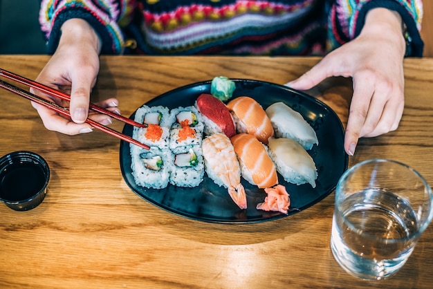
<path fill-rule="evenodd" d="M 174 156 L 169 149 L 141 149 L 131 158 L 132 175 L 136 184 L 151 189 L 163 189 L 169 183 Z"/>

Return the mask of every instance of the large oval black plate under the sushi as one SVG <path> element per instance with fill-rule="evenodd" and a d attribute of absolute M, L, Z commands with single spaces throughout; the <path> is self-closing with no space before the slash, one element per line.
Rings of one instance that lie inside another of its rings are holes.
<path fill-rule="evenodd" d="M 294 91 L 286 86 L 260 82 L 256 80 L 233 80 L 236 84 L 233 97 L 247 95 L 254 98 L 266 109 L 274 102 L 284 102 L 295 111 L 300 112 L 317 133 L 319 145 L 315 145 L 308 153 L 313 157 L 318 177 L 316 187 L 311 185 L 293 185 L 286 183 L 279 176 L 279 183 L 286 186 L 291 198 L 288 214 L 264 212 L 257 210 L 257 203 L 264 201 L 266 193 L 250 185 L 246 180 L 242 184 L 247 194 L 247 209 L 239 209 L 234 204 L 227 189 L 215 185 L 208 176 L 194 188 L 183 188 L 168 185 L 165 189 L 147 189 L 136 185 L 131 174 L 131 155 L 129 143 L 120 143 L 120 167 L 127 185 L 145 200 L 174 214 L 211 223 L 257 223 L 272 221 L 290 216 L 311 207 L 331 194 L 338 179 L 347 169 L 348 156 L 344 152 L 344 130 L 338 116 L 323 102 Z M 148 106 L 162 105 L 169 109 L 178 106 L 193 105 L 201 93 L 210 93 L 211 81 L 190 84 L 164 93 L 147 102 Z M 135 113 L 131 115 L 134 118 Z M 132 127 L 125 124 L 123 133 L 132 136 Z"/>

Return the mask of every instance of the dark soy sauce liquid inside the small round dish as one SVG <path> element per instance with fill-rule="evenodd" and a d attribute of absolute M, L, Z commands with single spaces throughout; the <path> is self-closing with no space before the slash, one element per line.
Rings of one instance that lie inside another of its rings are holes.
<path fill-rule="evenodd" d="M 23 201 L 39 192 L 45 184 L 42 167 L 33 162 L 12 163 L 0 172 L 0 198 Z"/>

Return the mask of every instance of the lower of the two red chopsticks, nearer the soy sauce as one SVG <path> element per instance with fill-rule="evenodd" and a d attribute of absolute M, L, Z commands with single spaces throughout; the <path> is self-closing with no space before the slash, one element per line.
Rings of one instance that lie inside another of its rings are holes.
<path fill-rule="evenodd" d="M 43 106 L 48 107 L 49 109 L 53 109 L 57 113 L 60 113 L 68 118 L 71 118 L 71 114 L 67 109 L 64 109 L 62 106 L 59 106 L 55 104 L 54 102 L 50 102 L 42 97 L 39 97 L 37 95 L 34 95 L 33 93 L 30 93 L 28 91 L 24 91 L 24 89 L 21 89 L 17 86 L 14 86 L 12 84 L 9 84 L 8 82 L 3 82 L 3 80 L 0 80 L 0 87 L 6 89 L 7 91 L 10 91 L 11 93 L 15 93 L 17 95 L 20 95 L 30 101 L 37 102 L 38 104 L 42 104 Z M 115 131 L 113 129 L 110 129 L 109 127 L 105 127 L 104 125 L 100 124 L 99 122 L 95 122 L 94 120 L 91 120 L 90 118 L 87 118 L 86 122 L 90 124 L 92 127 L 95 127 L 95 129 L 99 129 L 100 131 L 104 131 L 105 133 L 109 133 L 111 136 L 116 136 L 117 138 L 120 138 L 121 140 L 125 140 L 126 142 L 129 142 L 133 145 L 137 145 L 138 147 L 142 147 L 143 149 L 149 150 L 150 147 L 142 144 L 138 140 L 134 140 L 133 138 L 123 134 L 119 133 L 118 131 Z"/>

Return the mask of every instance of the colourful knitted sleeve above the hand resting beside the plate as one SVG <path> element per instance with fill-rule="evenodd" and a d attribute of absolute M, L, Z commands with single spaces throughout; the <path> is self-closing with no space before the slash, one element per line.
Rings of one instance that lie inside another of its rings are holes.
<path fill-rule="evenodd" d="M 419 31 L 423 17 L 421 0 L 335 0 L 328 1 L 328 50 L 357 37 L 371 9 L 382 7 L 398 12 L 403 20 L 406 55 L 421 57 L 423 40 Z"/>

